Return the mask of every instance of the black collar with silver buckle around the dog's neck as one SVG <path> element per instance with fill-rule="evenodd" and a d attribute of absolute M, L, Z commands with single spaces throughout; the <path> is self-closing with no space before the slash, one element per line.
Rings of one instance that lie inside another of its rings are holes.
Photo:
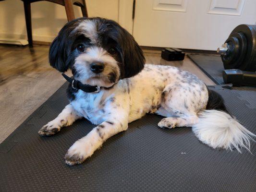
<path fill-rule="evenodd" d="M 86 93 L 98 93 L 100 91 L 100 86 L 92 86 L 89 84 L 82 84 L 80 81 L 70 78 L 65 73 L 61 73 L 62 76 L 72 85 L 73 89 L 81 89 Z"/>

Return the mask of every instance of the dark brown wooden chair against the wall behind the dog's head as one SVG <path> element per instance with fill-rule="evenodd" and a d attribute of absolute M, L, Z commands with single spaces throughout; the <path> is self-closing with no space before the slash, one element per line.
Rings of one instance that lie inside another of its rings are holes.
<path fill-rule="evenodd" d="M 22 0 L 22 1 L 24 3 L 28 46 L 33 47 L 30 4 L 33 2 L 42 1 L 42 0 Z M 75 18 L 73 4 L 81 7 L 83 16 L 88 17 L 85 0 L 47 0 L 47 1 L 65 6 L 68 21 L 71 21 Z"/>

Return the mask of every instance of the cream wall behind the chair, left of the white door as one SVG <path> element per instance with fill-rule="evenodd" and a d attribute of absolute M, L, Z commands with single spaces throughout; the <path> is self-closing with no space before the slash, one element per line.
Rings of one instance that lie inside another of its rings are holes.
<path fill-rule="evenodd" d="M 85 0 L 89 17 L 99 16 L 118 21 L 119 0 Z M 73 6 L 75 17 L 81 9 Z M 67 23 L 65 8 L 48 1 L 31 4 L 33 40 L 51 42 Z M 0 38 L 26 39 L 23 1 L 0 1 Z"/>

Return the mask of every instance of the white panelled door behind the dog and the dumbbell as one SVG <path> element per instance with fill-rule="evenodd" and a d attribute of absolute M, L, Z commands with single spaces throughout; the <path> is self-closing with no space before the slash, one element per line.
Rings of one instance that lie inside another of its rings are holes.
<path fill-rule="evenodd" d="M 256 0 L 136 0 L 141 46 L 216 50 L 239 24 L 256 24 Z"/>

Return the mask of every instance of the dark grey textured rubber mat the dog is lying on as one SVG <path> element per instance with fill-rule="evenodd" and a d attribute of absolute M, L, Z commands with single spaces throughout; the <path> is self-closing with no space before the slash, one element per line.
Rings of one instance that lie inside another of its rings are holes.
<path fill-rule="evenodd" d="M 68 148 L 94 127 L 83 119 L 51 137 L 37 134 L 68 103 L 66 86 L 0 144 L 1 192 L 256 192 L 255 143 L 252 154 L 214 150 L 190 128 L 159 129 L 157 115 L 130 123 L 83 164 L 65 165 Z M 256 133 L 256 92 L 216 90 Z"/>

